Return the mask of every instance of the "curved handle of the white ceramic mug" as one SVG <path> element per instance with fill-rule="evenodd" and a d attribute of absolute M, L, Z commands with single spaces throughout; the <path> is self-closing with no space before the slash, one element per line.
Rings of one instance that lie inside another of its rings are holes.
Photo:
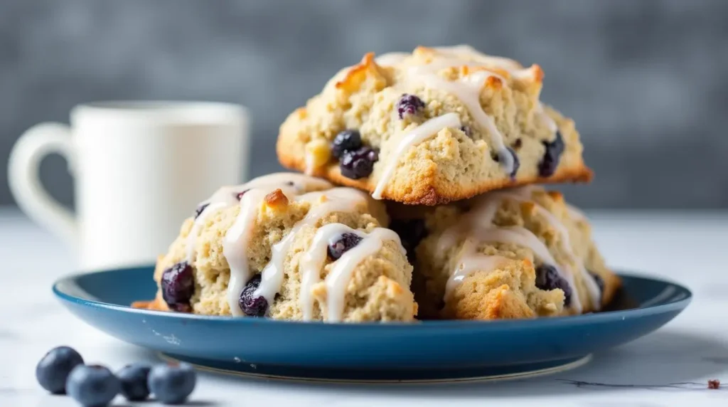
<path fill-rule="evenodd" d="M 39 178 L 42 159 L 52 153 L 65 158 L 72 170 L 74 146 L 68 125 L 49 122 L 26 130 L 10 153 L 8 183 L 17 205 L 28 217 L 75 248 L 74 214 L 48 194 Z"/>

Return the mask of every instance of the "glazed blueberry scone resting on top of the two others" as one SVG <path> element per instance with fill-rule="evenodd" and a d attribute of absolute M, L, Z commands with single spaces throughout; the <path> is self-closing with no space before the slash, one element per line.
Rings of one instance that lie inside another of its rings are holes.
<path fill-rule="evenodd" d="M 542 79 L 537 65 L 468 46 L 370 53 L 288 116 L 278 158 L 413 205 L 590 181 L 574 122 L 539 101 Z"/>

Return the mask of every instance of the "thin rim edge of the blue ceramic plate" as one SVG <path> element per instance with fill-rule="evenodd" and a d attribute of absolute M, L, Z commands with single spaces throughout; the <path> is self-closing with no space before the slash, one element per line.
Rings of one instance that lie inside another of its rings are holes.
<path fill-rule="evenodd" d="M 219 315 L 197 315 L 197 314 L 183 314 L 177 312 L 164 312 L 156 311 L 151 309 L 138 309 L 130 306 L 124 306 L 119 304 L 111 304 L 108 302 L 97 301 L 93 299 L 84 299 L 80 296 L 74 296 L 71 293 L 63 291 L 61 287 L 65 284 L 72 284 L 74 280 L 80 277 L 87 277 L 91 274 L 106 274 L 110 272 L 123 272 L 124 270 L 132 269 L 153 269 L 154 266 L 131 266 L 121 267 L 113 269 L 95 270 L 91 272 L 76 272 L 68 274 L 64 277 L 60 277 L 52 285 L 52 292 L 61 301 L 65 301 L 69 304 L 75 304 L 83 307 L 95 307 L 103 308 L 116 312 L 124 312 L 139 315 L 149 315 L 153 317 L 165 316 L 169 318 L 176 318 L 179 320 L 199 320 L 208 323 L 221 323 L 221 324 L 253 324 L 253 325 L 270 325 L 270 326 L 321 326 L 328 329 L 371 329 L 372 327 L 379 327 L 377 329 L 387 328 L 403 328 L 407 327 L 410 329 L 417 329 L 416 327 L 424 328 L 477 328 L 482 326 L 488 326 L 492 329 L 513 329 L 521 325 L 526 325 L 528 328 L 538 328 L 539 325 L 548 325 L 553 327 L 554 325 L 579 325 L 579 323 L 596 323 L 601 320 L 614 320 L 618 317 L 637 317 L 640 315 L 654 315 L 663 312 L 670 312 L 674 310 L 685 309 L 692 301 L 693 293 L 685 285 L 675 282 L 670 278 L 664 277 L 652 277 L 648 273 L 639 274 L 635 270 L 625 272 L 623 269 L 615 271 L 620 277 L 628 277 L 638 280 L 650 280 L 652 282 L 660 282 L 664 285 L 676 286 L 681 291 L 684 291 L 687 295 L 684 298 L 670 301 L 664 304 L 649 305 L 647 307 L 633 308 L 633 309 L 621 309 L 616 311 L 606 312 L 595 312 L 582 315 L 566 315 L 560 317 L 547 317 L 547 318 L 536 318 L 529 320 L 416 320 L 414 323 L 408 322 L 369 322 L 369 323 L 325 323 L 323 321 L 289 321 L 289 320 L 272 320 L 269 318 L 241 318 L 232 316 L 219 316 Z M 420 328 L 423 329 L 423 328 Z"/>

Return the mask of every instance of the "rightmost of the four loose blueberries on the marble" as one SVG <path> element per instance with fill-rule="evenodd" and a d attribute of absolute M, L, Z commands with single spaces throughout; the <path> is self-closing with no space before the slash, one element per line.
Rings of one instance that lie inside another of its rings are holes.
<path fill-rule="evenodd" d="M 149 372 L 147 386 L 154 398 L 165 404 L 181 404 L 189 397 L 197 376 L 187 363 L 156 365 Z"/>

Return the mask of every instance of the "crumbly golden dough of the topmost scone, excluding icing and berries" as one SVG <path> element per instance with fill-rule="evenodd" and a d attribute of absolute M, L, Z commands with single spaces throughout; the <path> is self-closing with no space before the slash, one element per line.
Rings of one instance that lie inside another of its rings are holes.
<path fill-rule="evenodd" d="M 411 205 L 439 205 L 507 186 L 590 181 L 592 172 L 582 159 L 574 121 L 539 102 L 543 78 L 539 66 L 523 68 L 504 58 L 497 60 L 506 62 L 495 63 L 474 50 L 457 52 L 462 66 L 446 66 L 435 74 L 453 83 L 482 70 L 496 75 L 485 80 L 478 101 L 502 134 L 505 146 L 518 157 L 520 168 L 511 178 L 494 159 L 491 134 L 474 119 L 466 104 L 451 92 L 413 80 L 412 67 L 452 58 L 453 51 L 448 52 L 418 47 L 411 55 L 379 62 L 368 54 L 356 66 L 344 68 L 323 92 L 293 111 L 281 125 L 277 154 L 282 165 L 372 192 L 389 161 L 395 160 L 395 171 L 382 197 Z M 502 68 L 503 64 L 521 69 L 521 74 L 512 74 Z M 405 93 L 422 99 L 424 108 L 400 119 L 397 100 Z M 464 127 L 443 128 L 400 156 L 395 154 L 406 133 L 446 113 L 458 114 Z M 553 119 L 564 143 L 558 167 L 546 178 L 539 175 L 538 165 L 545 143 L 556 136 L 544 114 Z M 341 175 L 339 162 L 331 156 L 331 141 L 347 129 L 358 130 L 365 146 L 379 150 L 379 161 L 368 178 L 355 180 Z"/>

